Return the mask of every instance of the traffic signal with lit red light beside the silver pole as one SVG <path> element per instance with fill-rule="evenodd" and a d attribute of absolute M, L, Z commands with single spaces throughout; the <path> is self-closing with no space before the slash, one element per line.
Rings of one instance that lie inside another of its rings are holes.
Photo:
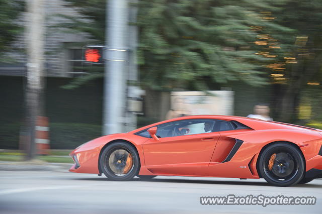
<path fill-rule="evenodd" d="M 90 64 L 104 64 L 104 46 L 85 46 L 84 62 Z"/>

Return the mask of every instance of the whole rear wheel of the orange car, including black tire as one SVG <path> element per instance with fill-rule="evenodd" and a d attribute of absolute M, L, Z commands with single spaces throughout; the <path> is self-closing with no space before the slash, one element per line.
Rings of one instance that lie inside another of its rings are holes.
<path fill-rule="evenodd" d="M 302 180 L 305 163 L 295 146 L 281 142 L 265 148 L 259 158 L 258 170 L 268 183 L 290 186 Z"/>

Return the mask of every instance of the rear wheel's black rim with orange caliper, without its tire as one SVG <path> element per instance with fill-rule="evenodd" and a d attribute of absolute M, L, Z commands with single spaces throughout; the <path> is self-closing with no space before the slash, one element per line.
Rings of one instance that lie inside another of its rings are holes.
<path fill-rule="evenodd" d="M 271 180 L 286 183 L 292 180 L 299 170 L 294 153 L 284 147 L 274 148 L 265 156 L 264 172 Z"/>

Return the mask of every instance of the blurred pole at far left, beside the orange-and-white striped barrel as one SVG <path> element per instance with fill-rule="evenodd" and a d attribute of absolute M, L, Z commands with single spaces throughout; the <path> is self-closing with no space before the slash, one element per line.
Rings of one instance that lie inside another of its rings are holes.
<path fill-rule="evenodd" d="M 43 90 L 44 70 L 44 0 L 29 0 L 27 26 L 27 84 L 26 84 L 26 123 L 27 160 L 35 156 L 36 120 Z"/>

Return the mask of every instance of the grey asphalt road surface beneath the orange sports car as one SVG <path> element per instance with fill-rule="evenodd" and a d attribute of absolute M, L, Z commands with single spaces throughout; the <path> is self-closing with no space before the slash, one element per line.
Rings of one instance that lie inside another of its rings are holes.
<path fill-rule="evenodd" d="M 104 175 L 0 171 L 0 213 L 322 213 L 322 179 L 292 187 L 265 180 L 158 176 L 109 181 Z M 200 196 L 315 196 L 315 205 L 201 205 Z"/>

